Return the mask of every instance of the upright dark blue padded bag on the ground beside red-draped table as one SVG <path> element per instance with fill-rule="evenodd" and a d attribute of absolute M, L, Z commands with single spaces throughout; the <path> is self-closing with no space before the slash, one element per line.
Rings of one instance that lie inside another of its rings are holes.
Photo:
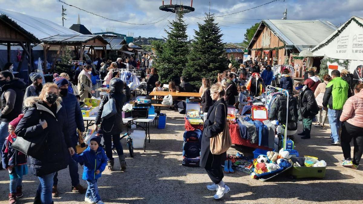
<path fill-rule="evenodd" d="M 183 143 L 183 163 L 184 166 L 199 167 L 200 162 L 200 139 L 201 130 L 185 131 Z"/>

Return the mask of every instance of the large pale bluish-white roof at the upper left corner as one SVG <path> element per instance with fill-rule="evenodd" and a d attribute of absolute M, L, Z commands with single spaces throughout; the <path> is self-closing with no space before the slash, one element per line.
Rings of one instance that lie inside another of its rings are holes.
<path fill-rule="evenodd" d="M 69 28 L 58 25 L 50 20 L 29 16 L 23 13 L 0 9 L 0 13 L 7 15 L 9 19 L 15 21 L 24 30 L 32 33 L 38 39 L 55 36 L 57 34 L 81 34 Z"/>

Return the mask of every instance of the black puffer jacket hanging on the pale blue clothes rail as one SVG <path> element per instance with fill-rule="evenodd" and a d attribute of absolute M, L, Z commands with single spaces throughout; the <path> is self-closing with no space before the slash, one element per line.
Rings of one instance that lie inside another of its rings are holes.
<path fill-rule="evenodd" d="M 298 121 L 297 113 L 297 100 L 293 96 L 289 96 L 289 122 Z M 286 123 L 286 106 L 287 106 L 287 96 L 281 95 L 271 105 L 269 110 L 269 119 L 278 120 L 280 123 Z"/>

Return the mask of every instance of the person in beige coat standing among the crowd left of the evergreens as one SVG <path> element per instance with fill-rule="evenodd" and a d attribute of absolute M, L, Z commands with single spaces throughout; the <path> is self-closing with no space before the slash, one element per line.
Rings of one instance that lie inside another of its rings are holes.
<path fill-rule="evenodd" d="M 86 65 L 81 73 L 79 73 L 77 89 L 79 97 L 81 97 L 81 101 L 84 101 L 85 98 L 91 98 L 92 94 L 94 94 L 94 90 L 92 89 L 91 73 L 92 67 L 90 65 Z"/>

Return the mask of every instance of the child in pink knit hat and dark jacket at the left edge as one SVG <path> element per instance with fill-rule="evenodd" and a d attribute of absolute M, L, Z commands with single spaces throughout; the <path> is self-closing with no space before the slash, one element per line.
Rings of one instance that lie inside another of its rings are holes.
<path fill-rule="evenodd" d="M 23 175 L 28 174 L 26 155 L 12 148 L 12 144 L 16 140 L 15 128 L 23 117 L 24 114 L 20 114 L 9 123 L 9 136 L 5 138 L 3 148 L 1 149 L 3 168 L 9 171 L 10 177 L 9 204 L 15 204 L 16 199 L 23 196 L 21 185 Z"/>

